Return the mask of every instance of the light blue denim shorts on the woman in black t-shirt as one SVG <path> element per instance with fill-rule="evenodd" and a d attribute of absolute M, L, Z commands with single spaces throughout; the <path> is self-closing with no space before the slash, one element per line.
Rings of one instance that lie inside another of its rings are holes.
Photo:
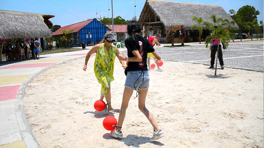
<path fill-rule="evenodd" d="M 126 75 L 125 87 L 132 90 L 146 90 L 149 88 L 149 72 L 143 71 L 129 71 Z"/>

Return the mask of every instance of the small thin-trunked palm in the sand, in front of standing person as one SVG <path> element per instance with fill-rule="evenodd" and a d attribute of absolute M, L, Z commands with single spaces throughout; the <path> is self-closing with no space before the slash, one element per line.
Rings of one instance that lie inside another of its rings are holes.
<path fill-rule="evenodd" d="M 212 32 L 207 38 L 205 38 L 205 46 L 212 50 L 212 43 L 214 42 L 214 39 L 221 40 L 223 47 L 226 49 L 228 47 L 228 40 L 231 38 L 231 40 L 234 42 L 235 35 L 234 33 L 230 33 L 228 31 L 224 31 L 223 28 L 215 28 L 213 25 L 210 27 L 212 29 Z M 219 42 L 217 46 L 217 56 L 216 56 L 216 64 L 215 64 L 215 71 L 214 75 L 216 76 L 217 72 L 217 60 L 218 60 L 218 51 L 219 51 Z"/>

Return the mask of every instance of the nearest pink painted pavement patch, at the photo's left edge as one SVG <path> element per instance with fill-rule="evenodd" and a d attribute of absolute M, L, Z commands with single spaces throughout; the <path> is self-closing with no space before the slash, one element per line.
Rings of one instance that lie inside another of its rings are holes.
<path fill-rule="evenodd" d="M 0 87 L 0 101 L 16 99 L 20 85 Z"/>

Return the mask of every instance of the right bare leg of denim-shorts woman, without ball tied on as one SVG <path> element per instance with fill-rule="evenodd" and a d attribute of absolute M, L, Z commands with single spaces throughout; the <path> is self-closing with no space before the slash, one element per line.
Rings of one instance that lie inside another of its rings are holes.
<path fill-rule="evenodd" d="M 153 126 L 154 131 L 157 132 L 157 131 L 159 131 L 159 127 L 158 127 L 156 121 L 154 120 L 152 114 L 149 112 L 149 110 L 145 106 L 147 91 L 148 90 L 138 90 L 138 92 L 139 92 L 139 94 L 138 94 L 138 108 L 147 117 L 147 119 L 149 120 L 149 122 Z"/>

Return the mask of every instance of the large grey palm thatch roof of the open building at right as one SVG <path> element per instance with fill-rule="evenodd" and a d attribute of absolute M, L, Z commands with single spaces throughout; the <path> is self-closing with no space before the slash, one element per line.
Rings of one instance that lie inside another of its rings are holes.
<path fill-rule="evenodd" d="M 233 21 L 221 6 L 158 0 L 146 0 L 138 21 L 142 28 L 151 22 L 151 26 L 163 25 L 166 30 L 171 26 L 183 26 L 184 29 L 191 30 L 191 27 L 196 24 L 192 20 L 194 16 L 203 18 L 203 22 L 214 24 L 210 19 L 212 15 L 215 15 L 217 19 Z M 233 27 L 235 30 L 238 29 L 237 24 Z M 202 25 L 202 28 L 205 29 L 205 26 Z M 227 29 L 227 26 L 223 26 L 223 28 Z"/>

